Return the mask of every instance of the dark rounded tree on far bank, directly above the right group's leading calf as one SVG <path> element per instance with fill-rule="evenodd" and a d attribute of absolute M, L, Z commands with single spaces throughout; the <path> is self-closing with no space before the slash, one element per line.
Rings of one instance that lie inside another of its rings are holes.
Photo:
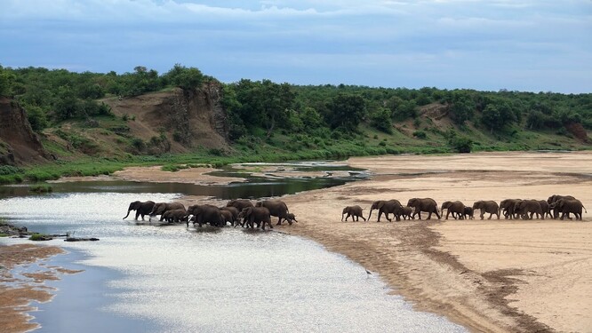
<path fill-rule="evenodd" d="M 327 104 L 329 121 L 332 129 L 342 127 L 348 131 L 355 131 L 357 125 L 364 120 L 366 106 L 359 95 L 340 92 Z"/>

